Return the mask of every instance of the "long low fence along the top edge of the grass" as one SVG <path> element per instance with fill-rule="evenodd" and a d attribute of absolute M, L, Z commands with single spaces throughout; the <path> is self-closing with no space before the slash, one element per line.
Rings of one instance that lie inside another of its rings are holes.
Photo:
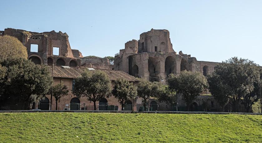
<path fill-rule="evenodd" d="M 102 111 L 121 111 L 121 105 L 109 105 L 109 104 L 99 104 L 96 105 L 96 110 L 102 110 Z M 56 104 L 52 104 L 50 107 L 50 104 L 48 103 L 37 103 L 33 104 L 30 109 L 41 109 L 41 110 L 56 110 Z M 179 111 L 184 112 L 187 111 L 187 106 L 175 106 L 175 105 L 166 105 L 166 104 L 151 104 L 146 106 L 144 108 L 143 104 L 136 104 L 136 107 L 133 106 L 133 104 L 126 104 L 124 106 L 123 111 Z M 17 105 L 0 105 L 0 110 L 24 110 L 21 106 Z M 69 103 L 69 104 L 57 104 L 57 110 L 95 110 L 94 105 L 86 105 L 86 104 L 79 104 L 79 103 Z M 216 108 L 204 108 L 203 106 L 194 106 L 190 108 L 190 111 L 195 112 L 232 112 L 232 107 L 228 106 L 224 108 L 224 111 L 221 111 L 221 109 Z M 245 113 L 245 107 L 240 106 L 239 107 L 240 113 Z M 254 106 L 250 108 L 249 113 L 261 113 L 261 108 L 258 106 Z"/>

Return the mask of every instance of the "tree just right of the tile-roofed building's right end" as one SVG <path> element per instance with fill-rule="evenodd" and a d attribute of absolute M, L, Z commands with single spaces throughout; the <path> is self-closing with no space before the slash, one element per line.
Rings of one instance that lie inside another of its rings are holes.
<path fill-rule="evenodd" d="M 150 97 L 157 97 L 160 92 L 161 83 L 160 82 L 150 82 L 146 79 L 140 79 L 137 87 L 138 97 L 142 98 L 142 104 L 144 106 L 144 110 L 147 110 L 148 99 Z"/>

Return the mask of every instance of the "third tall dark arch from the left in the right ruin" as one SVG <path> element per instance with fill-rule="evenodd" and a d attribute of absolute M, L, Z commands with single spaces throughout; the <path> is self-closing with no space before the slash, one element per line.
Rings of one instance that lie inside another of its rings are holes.
<path fill-rule="evenodd" d="M 168 56 L 165 60 L 165 73 L 168 76 L 169 74 L 176 74 L 176 60 L 175 58 Z"/>

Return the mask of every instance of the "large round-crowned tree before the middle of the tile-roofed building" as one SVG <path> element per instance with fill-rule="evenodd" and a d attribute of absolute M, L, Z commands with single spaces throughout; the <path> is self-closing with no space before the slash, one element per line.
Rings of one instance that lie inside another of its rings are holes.
<path fill-rule="evenodd" d="M 78 98 L 86 97 L 87 100 L 94 102 L 94 110 L 96 110 L 96 101 L 111 96 L 111 81 L 103 71 L 85 70 L 75 79 L 75 89 L 72 93 Z"/>

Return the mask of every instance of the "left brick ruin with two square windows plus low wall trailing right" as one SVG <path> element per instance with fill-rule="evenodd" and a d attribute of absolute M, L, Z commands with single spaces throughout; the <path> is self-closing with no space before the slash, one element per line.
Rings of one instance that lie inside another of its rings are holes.
<path fill-rule="evenodd" d="M 0 35 L 16 37 L 27 47 L 28 59 L 36 64 L 70 67 L 112 69 L 107 58 L 83 57 L 79 50 L 71 49 L 68 35 L 61 31 L 30 32 L 7 28 Z"/>

